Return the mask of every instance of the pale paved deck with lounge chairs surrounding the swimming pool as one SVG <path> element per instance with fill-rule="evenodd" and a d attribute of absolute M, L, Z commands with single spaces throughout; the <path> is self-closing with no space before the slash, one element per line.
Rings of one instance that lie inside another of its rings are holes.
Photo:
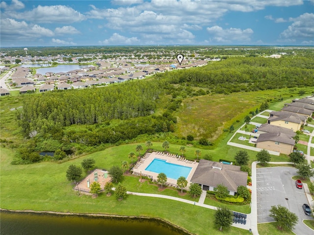
<path fill-rule="evenodd" d="M 177 164 L 177 165 L 182 165 L 182 166 L 187 166 L 187 167 L 191 167 L 191 171 L 188 174 L 186 180 L 187 180 L 187 187 L 190 184 L 190 180 L 196 170 L 196 167 L 198 166 L 198 162 L 196 161 L 189 161 L 185 158 L 182 157 L 176 157 L 176 155 L 172 155 L 172 154 L 164 154 L 161 152 L 153 152 L 153 153 L 147 153 L 144 157 L 142 157 L 142 159 L 140 161 L 138 161 L 136 163 L 136 165 L 133 167 L 133 174 L 134 175 L 141 175 L 142 176 L 147 176 L 153 179 L 153 181 L 157 180 L 157 175 L 158 173 L 152 172 L 152 171 L 146 171 L 146 167 L 148 167 L 149 164 L 151 164 L 151 162 L 155 159 L 163 159 L 166 160 L 169 163 L 173 163 L 173 164 Z M 177 186 L 177 180 L 175 179 L 167 179 L 167 185 L 169 186 Z"/>

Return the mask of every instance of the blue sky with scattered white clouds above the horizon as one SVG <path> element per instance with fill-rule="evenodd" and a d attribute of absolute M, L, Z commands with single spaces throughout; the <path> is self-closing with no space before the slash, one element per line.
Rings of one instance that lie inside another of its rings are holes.
<path fill-rule="evenodd" d="M 314 0 L 1 0 L 1 47 L 314 45 Z"/>

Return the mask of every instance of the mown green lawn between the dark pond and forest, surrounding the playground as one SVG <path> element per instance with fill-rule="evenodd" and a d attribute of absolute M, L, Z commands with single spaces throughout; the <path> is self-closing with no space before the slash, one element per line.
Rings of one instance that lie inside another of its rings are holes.
<path fill-rule="evenodd" d="M 135 146 L 136 144 L 113 147 L 60 164 L 41 162 L 31 165 L 11 165 L 10 162 L 14 153 L 1 147 L 1 208 L 158 217 L 193 234 L 217 233 L 212 219 L 214 210 L 211 209 L 173 200 L 134 195 L 128 195 L 123 201 L 117 201 L 114 195 L 107 197 L 104 194 L 93 199 L 90 196 L 78 196 L 77 192 L 72 190 L 74 185 L 69 183 L 65 177 L 69 165 L 79 165 L 83 159 L 93 157 L 97 167 L 108 169 L 112 165 L 120 165 L 123 159 L 130 160 L 125 157 L 125 154 L 133 151 Z M 86 173 L 83 177 L 85 176 Z M 136 178 L 133 177 L 125 177 L 122 183 L 127 187 L 127 190 L 135 191 L 137 187 Z M 154 187 L 154 185 L 142 183 L 142 188 L 138 190 L 145 191 L 147 189 L 153 192 Z M 157 189 L 157 187 L 155 188 Z M 178 195 L 176 190 L 169 189 L 168 191 L 166 191 L 167 194 Z M 159 192 L 156 190 L 155 193 Z M 241 235 L 246 233 L 248 232 L 232 227 L 222 234 Z"/>

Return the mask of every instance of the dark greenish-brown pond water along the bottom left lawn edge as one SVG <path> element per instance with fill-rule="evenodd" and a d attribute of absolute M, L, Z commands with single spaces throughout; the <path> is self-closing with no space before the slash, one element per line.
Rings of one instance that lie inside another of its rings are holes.
<path fill-rule="evenodd" d="M 0 235 L 186 235 L 183 231 L 142 218 L 10 212 L 1 210 Z"/>

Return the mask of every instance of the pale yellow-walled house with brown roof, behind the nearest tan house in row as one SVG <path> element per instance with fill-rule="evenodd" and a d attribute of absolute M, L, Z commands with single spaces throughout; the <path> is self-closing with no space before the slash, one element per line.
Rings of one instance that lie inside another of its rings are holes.
<path fill-rule="evenodd" d="M 288 128 L 293 131 L 299 131 L 302 125 L 302 120 L 296 116 L 287 115 L 279 117 L 269 117 L 267 119 L 267 123 L 278 127 Z"/>

